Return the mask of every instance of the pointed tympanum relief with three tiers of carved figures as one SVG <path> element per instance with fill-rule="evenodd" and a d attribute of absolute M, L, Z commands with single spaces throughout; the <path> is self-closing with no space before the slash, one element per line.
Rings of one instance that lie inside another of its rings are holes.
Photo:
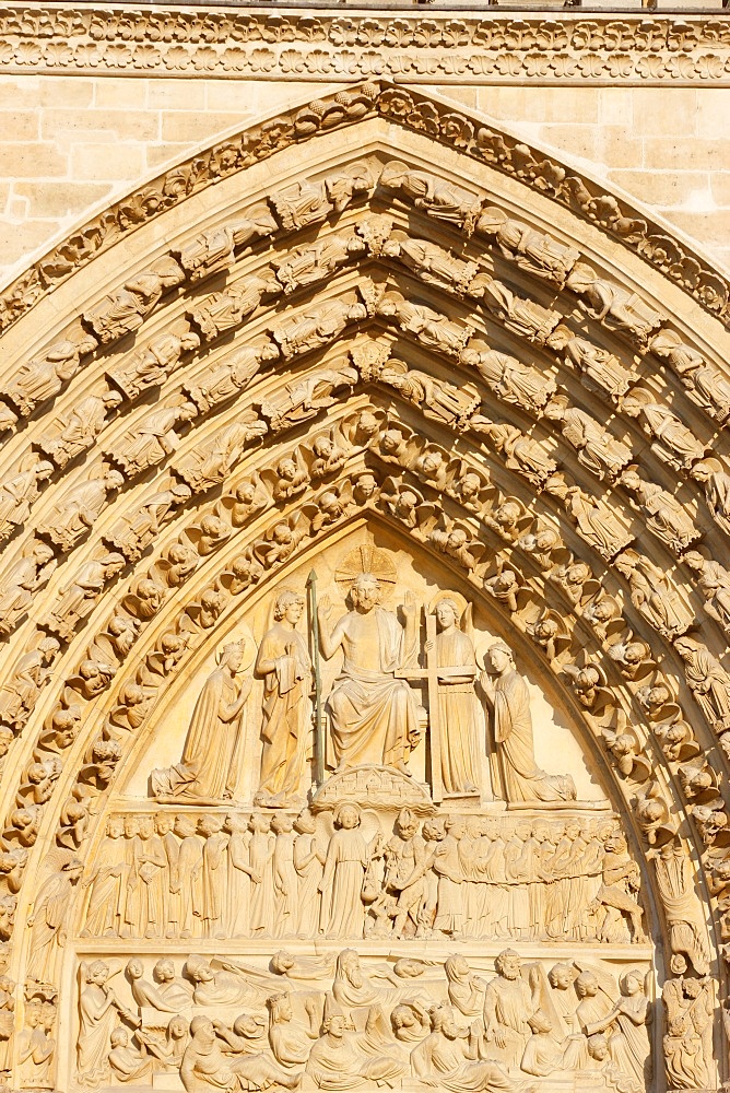
<path fill-rule="evenodd" d="M 72 860 L 36 909 L 43 980 L 81 884 L 72 1084 L 647 1088 L 641 870 L 448 573 L 361 524 L 161 709 L 83 879 Z"/>

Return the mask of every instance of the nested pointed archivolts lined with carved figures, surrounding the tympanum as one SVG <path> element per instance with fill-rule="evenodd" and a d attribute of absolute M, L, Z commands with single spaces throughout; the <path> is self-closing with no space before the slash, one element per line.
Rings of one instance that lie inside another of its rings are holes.
<path fill-rule="evenodd" d="M 711 969 L 719 1043 L 728 336 L 675 266 L 647 265 L 646 225 L 615 200 L 593 193 L 579 216 L 549 161 L 527 150 L 518 169 L 527 153 L 490 130 L 480 146 L 510 157 L 478 162 L 480 121 L 419 96 L 405 126 L 405 93 L 380 94 L 335 96 L 350 116 L 330 104 L 331 127 L 329 106 L 299 111 L 306 164 L 273 122 L 256 139 L 275 156 L 243 174 L 245 139 L 234 160 L 219 145 L 202 157 L 215 187 L 188 176 L 188 200 L 130 214 L 3 337 L 1 929 L 26 984 L 19 1034 L 45 991 L 71 1044 L 76 949 L 55 952 L 49 925 L 38 984 L 36 927 L 19 926 L 49 883 L 78 914 L 73 860 L 162 691 L 296 552 L 372 519 L 492 606 L 518 668 L 530 648 L 552 673 L 622 802 L 664 1010 L 690 980 L 709 998 Z"/>

